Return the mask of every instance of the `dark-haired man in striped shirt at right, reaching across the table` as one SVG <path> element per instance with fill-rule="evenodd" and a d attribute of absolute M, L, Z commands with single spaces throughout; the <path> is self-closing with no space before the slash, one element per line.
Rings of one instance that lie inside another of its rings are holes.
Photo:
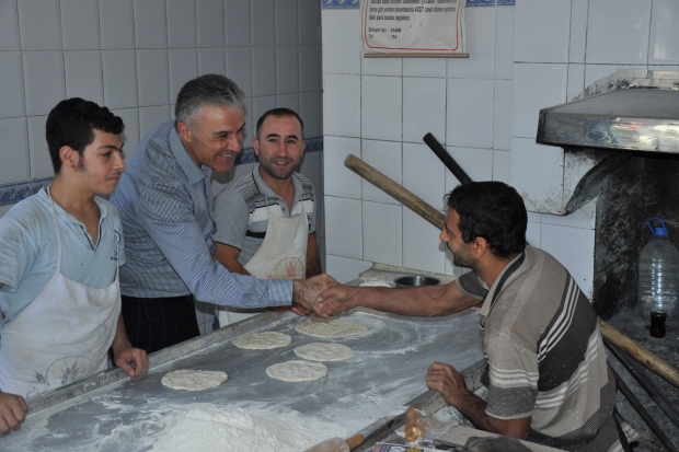
<path fill-rule="evenodd" d="M 447 198 L 439 237 L 454 265 L 472 273 L 447 286 L 336 286 L 322 297 L 347 309 L 406 315 L 448 315 L 484 299 L 487 402 L 467 390 L 456 369 L 439 362 L 429 368 L 427 385 L 480 429 L 568 451 L 621 450 L 621 425 L 631 428 L 612 414 L 615 381 L 597 314 L 554 257 L 526 245 L 528 216 L 520 195 L 500 182 L 480 182 L 460 185 Z"/>

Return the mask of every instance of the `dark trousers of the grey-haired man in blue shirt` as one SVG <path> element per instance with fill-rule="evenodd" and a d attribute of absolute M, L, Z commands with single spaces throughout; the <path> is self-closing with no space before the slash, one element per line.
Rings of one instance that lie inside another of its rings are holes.
<path fill-rule="evenodd" d="M 147 354 L 199 336 L 192 294 L 173 298 L 123 295 L 123 321 L 133 347 Z"/>

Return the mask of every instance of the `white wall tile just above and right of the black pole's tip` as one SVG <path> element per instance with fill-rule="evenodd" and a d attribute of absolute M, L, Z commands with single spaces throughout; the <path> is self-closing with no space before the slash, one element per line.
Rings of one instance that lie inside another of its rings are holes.
<path fill-rule="evenodd" d="M 446 144 L 493 146 L 494 81 L 448 79 Z"/>

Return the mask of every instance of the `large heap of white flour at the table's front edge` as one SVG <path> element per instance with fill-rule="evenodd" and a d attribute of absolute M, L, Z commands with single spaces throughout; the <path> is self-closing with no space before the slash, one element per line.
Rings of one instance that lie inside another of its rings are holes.
<path fill-rule="evenodd" d="M 166 433 L 152 451 L 299 452 L 325 439 L 347 436 L 334 424 L 306 418 L 297 412 L 193 406 L 173 415 Z"/>

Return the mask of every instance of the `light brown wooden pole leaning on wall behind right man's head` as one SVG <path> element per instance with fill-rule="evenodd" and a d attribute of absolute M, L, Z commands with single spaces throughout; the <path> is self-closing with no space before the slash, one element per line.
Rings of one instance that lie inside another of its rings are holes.
<path fill-rule="evenodd" d="M 434 224 L 435 228 L 444 229 L 446 217 L 441 212 L 356 155 L 348 154 L 344 160 L 344 166 L 348 167 L 376 187 L 380 188 L 395 200 L 401 201 L 401 204 L 405 207 Z"/>

